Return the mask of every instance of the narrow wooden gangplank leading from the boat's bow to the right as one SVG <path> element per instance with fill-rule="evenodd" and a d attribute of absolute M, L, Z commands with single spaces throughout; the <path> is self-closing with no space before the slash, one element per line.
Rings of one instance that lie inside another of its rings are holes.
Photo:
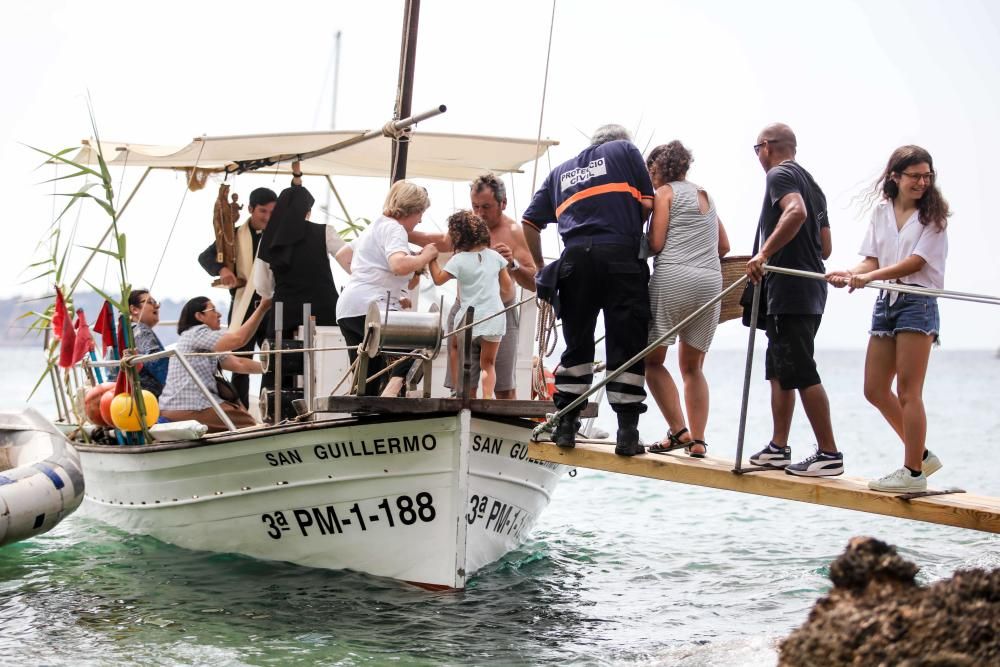
<path fill-rule="evenodd" d="M 532 442 L 528 447 L 528 456 L 577 468 L 797 500 L 989 533 L 1000 532 L 1000 498 L 971 493 L 906 500 L 897 495 L 872 491 L 868 488 L 868 480 L 857 477 L 796 477 L 782 470 L 738 475 L 732 472 L 732 461 L 694 459 L 683 451 L 616 456 L 613 443 L 609 447 L 606 444 L 578 442 L 575 449 L 562 449 L 550 442 Z M 928 491 L 933 490 L 928 488 Z"/>

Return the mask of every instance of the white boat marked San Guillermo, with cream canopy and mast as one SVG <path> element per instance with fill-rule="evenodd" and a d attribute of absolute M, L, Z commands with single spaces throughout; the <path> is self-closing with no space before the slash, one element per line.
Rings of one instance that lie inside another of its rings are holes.
<path fill-rule="evenodd" d="M 408 106 L 397 108 L 403 120 L 377 131 L 201 137 L 181 147 L 92 139 L 72 160 L 96 165 L 101 153 L 111 167 L 185 170 L 202 178 L 261 166 L 287 172 L 299 160 L 305 174 L 333 187 L 332 176 L 385 178 L 390 164 L 393 179 L 401 164 L 409 178 L 468 182 L 485 171 L 509 174 L 556 143 L 418 133 L 410 129 L 414 122 L 445 109 L 410 116 Z M 306 368 L 297 417 L 144 445 L 80 443 L 85 510 L 190 549 L 464 587 L 526 539 L 570 468 L 527 454 L 538 426 L 533 419 L 552 412 L 551 402 L 445 398 L 440 315 L 428 315 L 428 305 L 415 305 L 422 311 L 418 333 L 427 338 L 416 346 L 425 351 L 419 397 L 331 395 L 350 367 L 343 339 L 336 327 L 307 326 L 301 336 L 307 348 L 333 349 L 299 355 Z M 517 307 L 517 388 L 527 396 L 535 305 L 528 298 Z M 381 343 L 375 336 L 374 354 L 391 347 L 393 318 L 380 318 L 377 309 L 373 316 L 383 334 Z M 404 336 L 406 349 L 412 334 Z"/>

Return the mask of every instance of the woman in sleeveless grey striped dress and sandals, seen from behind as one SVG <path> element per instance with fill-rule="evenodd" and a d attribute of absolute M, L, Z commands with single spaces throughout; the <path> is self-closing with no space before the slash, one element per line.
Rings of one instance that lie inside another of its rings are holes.
<path fill-rule="evenodd" d="M 653 342 L 722 291 L 719 258 L 729 252 L 729 239 L 704 189 L 686 180 L 693 157 L 679 141 L 657 146 L 649 154 L 656 196 L 649 227 L 649 245 L 656 254 L 649 279 Z M 704 458 L 708 423 L 708 382 L 702 372 L 719 322 L 719 305 L 708 309 L 646 357 L 646 384 L 670 425 L 667 437 L 649 451 L 683 447 L 689 456 Z M 684 382 L 684 405 L 663 362 L 667 346 L 680 337 L 678 366 Z M 689 424 L 689 426 L 688 426 Z M 689 430 L 690 429 L 690 430 Z"/>

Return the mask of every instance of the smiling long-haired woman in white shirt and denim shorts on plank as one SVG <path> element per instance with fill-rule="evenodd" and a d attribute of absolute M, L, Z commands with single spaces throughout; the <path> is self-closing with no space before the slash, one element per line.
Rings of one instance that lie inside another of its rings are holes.
<path fill-rule="evenodd" d="M 934 161 L 919 146 L 893 151 L 872 197 L 879 197 L 861 244 L 864 259 L 827 280 L 850 291 L 873 280 L 944 288 L 950 215 L 935 183 Z M 865 357 L 865 398 L 903 441 L 903 467 L 868 483 L 876 491 L 911 493 L 927 488 L 941 461 L 925 447 L 923 389 L 931 345 L 938 340 L 937 298 L 881 291 L 872 313 Z M 896 392 L 892 381 L 896 380 Z"/>

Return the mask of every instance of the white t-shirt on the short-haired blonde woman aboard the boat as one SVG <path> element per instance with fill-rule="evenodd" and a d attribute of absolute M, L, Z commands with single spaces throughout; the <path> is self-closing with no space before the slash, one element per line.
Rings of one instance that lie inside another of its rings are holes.
<path fill-rule="evenodd" d="M 395 275 L 389 268 L 389 258 L 397 252 L 410 254 L 403 226 L 393 218 L 380 215 L 351 241 L 351 249 L 354 252 L 351 278 L 337 300 L 337 319 L 365 315 L 372 302 L 378 303 L 383 310 L 387 293 L 390 295 L 389 310 L 399 310 L 399 296 L 410 282 L 410 276 Z"/>

